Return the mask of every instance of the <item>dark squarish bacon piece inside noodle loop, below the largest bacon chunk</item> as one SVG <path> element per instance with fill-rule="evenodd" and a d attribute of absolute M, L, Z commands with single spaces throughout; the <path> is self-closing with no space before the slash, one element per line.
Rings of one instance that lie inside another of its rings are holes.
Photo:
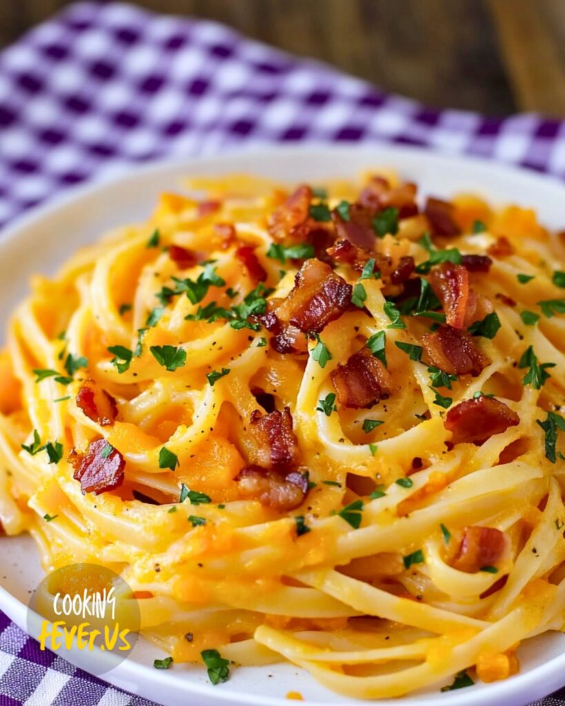
<path fill-rule="evenodd" d="M 352 409 L 371 407 L 389 395 L 388 373 L 367 347 L 352 354 L 345 365 L 338 365 L 331 381 L 340 403 Z"/>

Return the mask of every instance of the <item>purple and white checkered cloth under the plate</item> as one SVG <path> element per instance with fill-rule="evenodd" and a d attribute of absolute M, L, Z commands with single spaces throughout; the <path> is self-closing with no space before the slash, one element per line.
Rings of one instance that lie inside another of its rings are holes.
<path fill-rule="evenodd" d="M 127 162 L 307 140 L 427 145 L 565 177 L 565 123 L 430 110 L 212 22 L 81 3 L 0 54 L 0 224 Z M 0 614 L 0 706 L 24 703 L 149 702 L 40 652 Z M 565 690 L 538 706 L 565 706 Z"/>

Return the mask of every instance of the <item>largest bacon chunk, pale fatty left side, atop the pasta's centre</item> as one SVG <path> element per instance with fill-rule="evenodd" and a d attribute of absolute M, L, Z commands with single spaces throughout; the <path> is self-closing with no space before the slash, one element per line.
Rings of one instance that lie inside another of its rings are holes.
<path fill-rule="evenodd" d="M 275 310 L 283 323 L 319 333 L 350 306 L 352 286 L 329 265 L 307 260 L 295 277 L 295 287 Z"/>

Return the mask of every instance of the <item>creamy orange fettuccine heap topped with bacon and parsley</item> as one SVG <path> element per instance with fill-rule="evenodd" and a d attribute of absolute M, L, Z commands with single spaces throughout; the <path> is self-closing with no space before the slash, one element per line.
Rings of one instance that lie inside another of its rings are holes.
<path fill-rule="evenodd" d="M 191 179 L 14 311 L 1 529 L 121 574 L 156 667 L 507 678 L 565 627 L 564 262 L 393 173 Z"/>

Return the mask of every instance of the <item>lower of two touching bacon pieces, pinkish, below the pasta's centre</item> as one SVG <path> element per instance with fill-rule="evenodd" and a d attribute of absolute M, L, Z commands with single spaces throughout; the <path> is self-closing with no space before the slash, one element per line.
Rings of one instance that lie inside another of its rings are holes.
<path fill-rule="evenodd" d="M 283 513 L 302 505 L 308 491 L 307 473 L 292 472 L 283 477 L 259 466 L 242 468 L 235 481 L 244 498 L 255 498 L 261 505 Z"/>

